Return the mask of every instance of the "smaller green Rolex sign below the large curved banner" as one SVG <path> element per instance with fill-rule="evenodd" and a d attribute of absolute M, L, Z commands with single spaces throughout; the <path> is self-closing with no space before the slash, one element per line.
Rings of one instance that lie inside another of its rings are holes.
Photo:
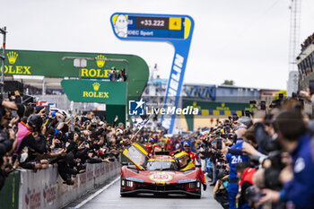
<path fill-rule="evenodd" d="M 62 80 L 68 100 L 126 105 L 126 82 Z"/>

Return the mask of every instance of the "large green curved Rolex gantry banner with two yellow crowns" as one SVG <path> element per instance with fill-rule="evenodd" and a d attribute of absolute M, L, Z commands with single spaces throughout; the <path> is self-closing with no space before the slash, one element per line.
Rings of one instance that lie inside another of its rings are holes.
<path fill-rule="evenodd" d="M 86 59 L 86 66 L 74 67 L 75 58 Z M 5 76 L 18 74 L 109 80 L 111 67 L 115 67 L 117 73 L 122 68 L 126 69 L 128 98 L 138 100 L 149 76 L 148 65 L 141 57 L 107 53 L 5 50 Z"/>

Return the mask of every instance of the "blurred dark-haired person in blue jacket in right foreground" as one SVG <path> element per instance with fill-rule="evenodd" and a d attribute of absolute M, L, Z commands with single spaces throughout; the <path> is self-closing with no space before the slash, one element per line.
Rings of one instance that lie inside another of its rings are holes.
<path fill-rule="evenodd" d="M 282 170 L 280 191 L 263 189 L 260 204 L 289 202 L 297 209 L 314 208 L 314 140 L 307 133 L 300 112 L 283 110 L 275 119 L 279 142 L 290 152 L 292 165 Z"/>

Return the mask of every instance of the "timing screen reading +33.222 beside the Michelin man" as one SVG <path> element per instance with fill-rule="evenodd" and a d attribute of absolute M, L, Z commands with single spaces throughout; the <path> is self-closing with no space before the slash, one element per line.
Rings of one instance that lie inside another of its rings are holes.
<path fill-rule="evenodd" d="M 119 38 L 187 39 L 187 17 L 115 14 L 111 22 Z"/>

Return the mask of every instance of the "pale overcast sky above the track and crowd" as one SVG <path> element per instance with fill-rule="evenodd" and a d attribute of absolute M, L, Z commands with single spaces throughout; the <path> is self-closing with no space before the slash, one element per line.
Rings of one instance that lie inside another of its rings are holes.
<path fill-rule="evenodd" d="M 184 83 L 285 89 L 291 0 L 0 0 L 6 48 L 134 54 L 168 78 L 168 43 L 122 41 L 112 13 L 188 14 L 195 30 Z M 314 32 L 314 1 L 302 0 L 301 41 Z M 2 38 L 1 38 L 2 39 Z"/>

